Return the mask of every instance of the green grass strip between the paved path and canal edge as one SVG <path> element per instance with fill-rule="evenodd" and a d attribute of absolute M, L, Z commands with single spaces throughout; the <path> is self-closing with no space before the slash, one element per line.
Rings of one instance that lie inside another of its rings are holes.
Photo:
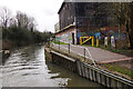
<path fill-rule="evenodd" d="M 104 63 L 103 66 L 106 67 L 109 70 L 117 71 L 117 72 L 121 72 L 123 75 L 126 75 L 126 76 L 133 78 L 133 71 L 131 71 L 129 69 L 121 68 L 121 67 L 117 67 L 114 65 L 106 65 L 106 63 Z"/>

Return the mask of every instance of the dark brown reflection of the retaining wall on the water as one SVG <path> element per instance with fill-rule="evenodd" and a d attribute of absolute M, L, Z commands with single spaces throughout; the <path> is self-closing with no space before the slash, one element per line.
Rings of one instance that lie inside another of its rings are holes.
<path fill-rule="evenodd" d="M 51 79 L 57 79 L 57 78 L 68 78 L 66 81 L 66 87 L 101 87 L 100 85 L 88 80 L 85 78 L 80 77 L 79 75 L 65 70 L 64 68 L 61 68 L 60 66 L 49 63 L 45 61 L 48 65 L 48 69 L 51 70 L 49 73 L 59 73 L 57 76 L 51 77 Z"/>

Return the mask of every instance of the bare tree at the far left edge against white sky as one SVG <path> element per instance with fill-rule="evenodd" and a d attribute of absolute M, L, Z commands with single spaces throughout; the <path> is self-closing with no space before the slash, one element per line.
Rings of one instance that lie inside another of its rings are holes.
<path fill-rule="evenodd" d="M 0 8 L 0 24 L 2 29 L 7 29 L 9 27 L 11 11 L 6 7 Z"/>

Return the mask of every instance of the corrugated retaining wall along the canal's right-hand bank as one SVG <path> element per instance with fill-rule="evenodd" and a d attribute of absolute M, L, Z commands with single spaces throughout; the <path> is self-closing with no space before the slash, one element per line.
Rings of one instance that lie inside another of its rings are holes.
<path fill-rule="evenodd" d="M 108 72 L 94 66 L 91 60 L 84 61 L 83 57 L 68 53 L 62 49 L 51 47 L 45 48 L 45 53 L 50 58 L 50 62 L 58 63 L 69 70 L 76 72 L 79 76 L 92 81 L 96 81 L 109 88 L 132 88 L 133 82 L 122 77 Z M 88 62 L 88 63 L 86 63 Z"/>

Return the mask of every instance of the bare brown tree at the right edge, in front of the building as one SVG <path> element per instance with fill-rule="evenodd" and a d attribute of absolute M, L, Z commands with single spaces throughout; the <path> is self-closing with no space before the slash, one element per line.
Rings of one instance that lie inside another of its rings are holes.
<path fill-rule="evenodd" d="M 111 2 L 106 7 L 108 13 L 114 18 L 114 21 L 119 26 L 119 32 L 122 31 L 126 33 L 129 47 L 133 49 L 133 2 Z M 124 27 L 122 30 L 121 27 Z M 119 36 L 119 38 L 121 34 Z"/>

